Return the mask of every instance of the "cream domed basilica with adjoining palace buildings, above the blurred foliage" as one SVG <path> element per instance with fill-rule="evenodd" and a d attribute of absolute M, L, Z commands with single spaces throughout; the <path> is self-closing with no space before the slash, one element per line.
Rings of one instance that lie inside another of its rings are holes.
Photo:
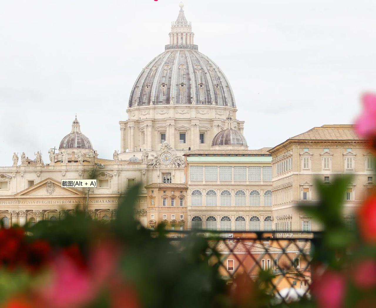
<path fill-rule="evenodd" d="M 14 153 L 13 165 L 0 167 L 3 226 L 57 220 L 77 205 L 108 220 L 120 194 L 142 183 L 135 215 L 148 228 L 163 222 L 173 230 L 290 236 L 320 229 L 297 205 L 317 200 L 316 178 L 330 184 L 343 174 L 355 174 L 343 208 L 352 222 L 374 187 L 366 140 L 353 125 L 323 125 L 273 148 L 248 149 L 230 82 L 199 52 L 179 6 L 165 51 L 146 64 L 132 87 L 128 119 L 119 122 L 120 152 L 113 160 L 100 159 L 76 117 L 71 126 L 67 120 L 67 136 L 48 157 Z M 61 180 L 93 175 L 96 188 L 61 187 Z"/>

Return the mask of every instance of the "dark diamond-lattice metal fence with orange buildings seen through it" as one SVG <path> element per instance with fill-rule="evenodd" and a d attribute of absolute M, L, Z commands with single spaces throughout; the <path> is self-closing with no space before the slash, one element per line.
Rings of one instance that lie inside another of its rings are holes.
<path fill-rule="evenodd" d="M 208 241 L 209 265 L 217 266 L 229 284 L 238 275 L 257 281 L 263 273 L 270 277 L 267 292 L 276 303 L 310 298 L 312 249 L 320 233 L 297 231 L 286 238 L 271 232 L 195 230 L 169 231 L 168 237 L 179 245 L 192 234 Z"/>

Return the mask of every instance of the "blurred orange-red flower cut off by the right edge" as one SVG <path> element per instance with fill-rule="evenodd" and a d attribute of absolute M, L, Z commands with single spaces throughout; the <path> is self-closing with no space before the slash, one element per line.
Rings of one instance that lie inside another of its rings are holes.
<path fill-rule="evenodd" d="M 376 243 L 376 196 L 363 202 L 358 219 L 363 239 L 366 242 Z"/>

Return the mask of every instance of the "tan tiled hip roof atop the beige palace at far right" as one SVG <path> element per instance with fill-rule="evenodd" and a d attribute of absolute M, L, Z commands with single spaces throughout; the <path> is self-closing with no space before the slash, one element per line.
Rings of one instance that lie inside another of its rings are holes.
<path fill-rule="evenodd" d="M 333 124 L 314 127 L 305 133 L 289 139 L 293 140 L 364 140 L 355 133 L 355 125 Z"/>

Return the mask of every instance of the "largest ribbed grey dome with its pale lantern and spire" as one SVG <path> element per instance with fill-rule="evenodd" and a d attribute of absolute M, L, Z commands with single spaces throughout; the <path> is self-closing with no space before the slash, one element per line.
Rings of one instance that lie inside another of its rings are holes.
<path fill-rule="evenodd" d="M 171 27 L 170 44 L 138 75 L 129 107 L 163 104 L 235 106 L 229 81 L 222 70 L 193 44 L 191 23 L 183 6 Z"/>

